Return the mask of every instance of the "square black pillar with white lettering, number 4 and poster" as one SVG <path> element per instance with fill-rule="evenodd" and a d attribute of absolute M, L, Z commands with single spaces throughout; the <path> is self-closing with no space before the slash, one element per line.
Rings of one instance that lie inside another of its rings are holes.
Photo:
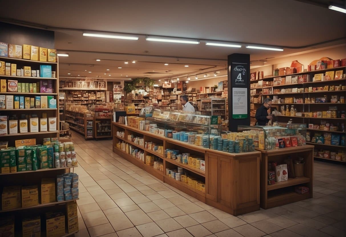
<path fill-rule="evenodd" d="M 228 129 L 250 125 L 250 55 L 228 55 Z"/>

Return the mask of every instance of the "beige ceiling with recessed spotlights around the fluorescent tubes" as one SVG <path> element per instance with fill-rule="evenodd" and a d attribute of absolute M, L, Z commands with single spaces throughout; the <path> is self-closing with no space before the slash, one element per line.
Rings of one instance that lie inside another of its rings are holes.
<path fill-rule="evenodd" d="M 158 80 L 212 76 L 227 67 L 227 55 L 233 53 L 250 54 L 257 61 L 346 44 L 346 14 L 329 10 L 328 2 L 12 0 L 15 7 L 1 8 L 0 21 L 55 31 L 58 53 L 69 54 L 59 58 L 60 77 Z M 139 39 L 86 37 L 83 31 L 121 32 Z M 145 40 L 146 35 L 199 39 L 200 44 L 153 42 Z M 241 42 L 243 47 L 208 46 L 206 40 Z M 245 48 L 250 43 L 284 51 Z M 258 63 L 265 64 L 252 65 Z"/>

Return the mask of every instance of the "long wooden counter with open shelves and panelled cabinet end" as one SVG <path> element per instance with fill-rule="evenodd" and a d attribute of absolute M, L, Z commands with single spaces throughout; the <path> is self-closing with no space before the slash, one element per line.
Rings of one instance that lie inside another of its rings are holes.
<path fill-rule="evenodd" d="M 117 136 L 118 131 L 124 132 L 125 136 Z M 117 122 L 112 122 L 112 132 L 113 152 L 188 195 L 235 216 L 260 210 L 260 152 L 227 153 L 210 150 Z M 146 149 L 143 145 L 127 140 L 127 135 L 141 136 L 144 138 L 144 142 L 162 144 L 163 150 L 174 148 L 180 153 L 204 157 L 206 170 L 203 171 L 166 158 L 163 153 Z M 147 165 L 142 160 L 119 149 L 117 147 L 119 142 L 130 144 L 132 147 L 142 150 L 144 157 L 146 155 L 159 157 L 163 162 L 164 172 L 154 169 L 153 165 Z M 177 167 L 188 170 L 193 178 L 204 181 L 205 192 L 166 175 L 166 168 L 176 169 Z"/>

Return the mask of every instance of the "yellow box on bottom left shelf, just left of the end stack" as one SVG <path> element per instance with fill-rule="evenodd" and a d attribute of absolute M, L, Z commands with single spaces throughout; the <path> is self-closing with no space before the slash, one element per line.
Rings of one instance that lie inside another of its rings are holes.
<path fill-rule="evenodd" d="M 65 216 L 63 213 L 46 213 L 46 235 L 49 237 L 65 235 Z"/>

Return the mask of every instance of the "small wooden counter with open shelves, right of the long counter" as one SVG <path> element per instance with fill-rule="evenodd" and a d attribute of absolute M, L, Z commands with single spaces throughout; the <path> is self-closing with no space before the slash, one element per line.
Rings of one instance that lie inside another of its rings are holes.
<path fill-rule="evenodd" d="M 274 150 L 256 149 L 261 152 L 261 208 L 273 208 L 312 198 L 313 148 L 312 145 L 304 145 Z M 277 162 L 277 165 L 284 164 L 284 159 L 289 157 L 292 160 L 297 160 L 299 157 L 304 158 L 303 176 L 288 178 L 287 181 L 268 185 L 268 162 Z M 308 187 L 309 192 L 304 194 L 296 193 L 294 187 L 298 185 Z"/>

